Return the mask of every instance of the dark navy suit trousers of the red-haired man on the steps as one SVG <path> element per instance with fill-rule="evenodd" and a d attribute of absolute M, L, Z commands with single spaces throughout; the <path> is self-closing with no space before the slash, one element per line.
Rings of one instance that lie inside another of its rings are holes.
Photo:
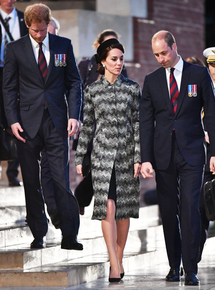
<path fill-rule="evenodd" d="M 33 139 L 26 139 L 26 143 L 21 141 L 17 143 L 27 221 L 33 236 L 45 236 L 48 230 L 40 184 L 40 153 L 44 148 L 53 178 L 53 191 L 60 215 L 59 225 L 62 235 L 77 237 L 80 218 L 78 202 L 69 187 L 69 141 L 56 131 L 48 109 L 44 110 L 36 136 Z"/>

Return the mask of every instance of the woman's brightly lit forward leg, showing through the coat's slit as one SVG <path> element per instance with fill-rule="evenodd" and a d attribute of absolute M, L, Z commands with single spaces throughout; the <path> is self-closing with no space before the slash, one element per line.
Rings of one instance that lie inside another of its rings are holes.
<path fill-rule="evenodd" d="M 119 260 L 117 258 L 117 225 L 115 221 L 116 206 L 112 199 L 107 200 L 107 218 L 101 221 L 103 237 L 110 258 L 110 278 L 120 277 Z"/>

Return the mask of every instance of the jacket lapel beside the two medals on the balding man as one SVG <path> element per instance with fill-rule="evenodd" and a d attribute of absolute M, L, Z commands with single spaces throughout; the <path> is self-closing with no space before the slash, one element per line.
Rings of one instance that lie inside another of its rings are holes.
<path fill-rule="evenodd" d="M 190 76 L 189 67 L 187 66 L 187 62 L 184 61 L 183 70 L 182 70 L 182 77 L 181 77 L 181 86 L 180 86 L 180 92 L 179 92 L 179 95 L 178 95 L 178 104 L 177 104 L 177 109 L 176 109 L 176 112 L 175 112 L 175 116 L 178 114 L 178 112 L 180 110 L 180 107 L 182 105 L 184 96 L 186 95 L 188 81 L 189 81 L 189 76 Z"/>

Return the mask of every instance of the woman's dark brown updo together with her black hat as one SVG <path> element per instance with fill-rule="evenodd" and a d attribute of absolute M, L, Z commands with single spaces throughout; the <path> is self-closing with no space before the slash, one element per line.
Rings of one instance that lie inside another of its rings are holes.
<path fill-rule="evenodd" d="M 123 54 L 125 53 L 124 46 L 121 43 L 119 43 L 119 41 L 116 38 L 110 38 L 110 39 L 105 40 L 104 42 L 100 44 L 100 46 L 97 49 L 97 54 L 95 54 L 95 59 L 96 59 L 96 63 L 98 64 L 98 72 L 100 73 L 100 75 L 105 74 L 105 68 L 103 68 L 101 62 L 107 58 L 108 53 L 113 48 L 118 48 L 122 51 Z"/>

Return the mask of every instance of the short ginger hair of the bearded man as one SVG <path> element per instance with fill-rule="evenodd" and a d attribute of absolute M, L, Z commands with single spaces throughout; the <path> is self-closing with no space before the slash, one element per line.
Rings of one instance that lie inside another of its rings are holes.
<path fill-rule="evenodd" d="M 48 25 L 51 22 L 51 10 L 42 3 L 35 3 L 26 7 L 24 12 L 25 23 L 30 27 L 32 23 L 45 21 Z"/>

